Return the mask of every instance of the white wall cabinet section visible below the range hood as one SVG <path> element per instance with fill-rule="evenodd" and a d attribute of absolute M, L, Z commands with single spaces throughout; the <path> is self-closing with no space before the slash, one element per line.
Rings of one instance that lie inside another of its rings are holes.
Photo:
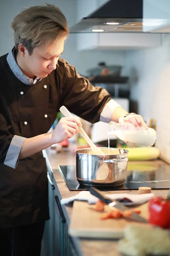
<path fill-rule="evenodd" d="M 152 33 L 82 33 L 77 34 L 77 50 L 138 49 L 161 46 L 161 34 Z"/>

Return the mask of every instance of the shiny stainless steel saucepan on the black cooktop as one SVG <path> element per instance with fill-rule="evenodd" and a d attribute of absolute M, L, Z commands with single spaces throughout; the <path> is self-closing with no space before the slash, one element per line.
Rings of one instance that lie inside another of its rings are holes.
<path fill-rule="evenodd" d="M 91 148 L 76 150 L 76 176 L 87 186 L 122 186 L 127 179 L 128 151 L 100 148 L 105 155 L 93 154 Z"/>

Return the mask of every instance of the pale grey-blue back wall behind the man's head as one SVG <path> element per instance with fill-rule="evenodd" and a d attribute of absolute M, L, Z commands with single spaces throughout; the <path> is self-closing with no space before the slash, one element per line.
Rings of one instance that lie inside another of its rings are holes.
<path fill-rule="evenodd" d="M 81 0 L 86 2 L 86 0 Z M 94 1 L 94 0 L 91 0 Z M 56 4 L 64 13 L 71 27 L 77 21 L 77 0 L 44 0 L 46 3 Z M 13 18 L 28 6 L 40 5 L 41 0 L 4 0 L 0 1 L 0 56 L 6 54 L 14 46 L 13 32 L 10 23 Z M 76 49 L 76 34 L 70 34 L 65 43 L 65 50 L 62 54 L 70 64 L 77 68 L 77 71 L 86 75 L 86 70 L 96 67 L 100 61 L 108 64 L 124 64 L 123 52 L 117 51 L 87 51 L 78 52 Z"/>

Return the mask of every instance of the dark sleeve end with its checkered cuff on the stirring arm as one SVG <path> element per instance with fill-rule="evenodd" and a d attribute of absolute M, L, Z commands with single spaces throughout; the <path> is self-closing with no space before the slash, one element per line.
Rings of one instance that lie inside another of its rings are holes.
<path fill-rule="evenodd" d="M 0 112 L 2 112 L 2 105 L 0 105 Z M 11 125 L 7 124 L 5 117 L 0 113 L 0 163 L 15 168 L 26 138 L 13 135 L 11 131 Z"/>

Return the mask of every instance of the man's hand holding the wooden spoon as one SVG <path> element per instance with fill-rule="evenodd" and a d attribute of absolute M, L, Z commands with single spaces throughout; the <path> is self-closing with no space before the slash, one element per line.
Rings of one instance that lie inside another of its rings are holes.
<path fill-rule="evenodd" d="M 73 137 L 79 132 L 80 127 L 82 127 L 82 124 L 77 117 L 62 117 L 54 131 L 52 131 L 52 140 L 54 140 L 54 144 Z"/>

